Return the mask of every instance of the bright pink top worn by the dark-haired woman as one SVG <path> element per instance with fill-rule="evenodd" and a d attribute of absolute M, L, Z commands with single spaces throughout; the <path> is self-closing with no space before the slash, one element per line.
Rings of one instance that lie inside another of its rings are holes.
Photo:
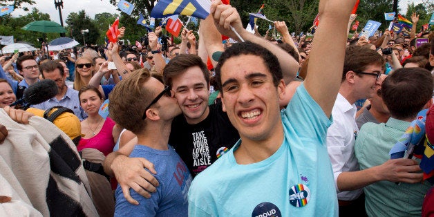
<path fill-rule="evenodd" d="M 104 155 L 108 155 L 113 151 L 113 147 L 115 147 L 115 141 L 113 141 L 113 127 L 115 126 L 115 122 L 111 120 L 110 117 L 107 117 L 104 124 L 102 124 L 102 128 L 97 135 L 93 136 L 93 138 L 84 139 L 82 138 L 77 146 L 78 151 L 82 151 L 86 148 L 98 149 Z"/>

